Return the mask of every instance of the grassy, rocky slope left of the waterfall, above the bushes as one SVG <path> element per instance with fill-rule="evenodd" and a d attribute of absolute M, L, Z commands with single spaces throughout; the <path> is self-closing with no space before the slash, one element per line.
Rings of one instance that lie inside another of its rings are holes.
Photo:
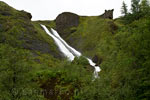
<path fill-rule="evenodd" d="M 40 52 L 60 58 L 53 40 L 45 34 L 40 23 L 32 22 L 31 18 L 30 13 L 0 2 L 0 43 L 30 50 L 35 55 Z"/>

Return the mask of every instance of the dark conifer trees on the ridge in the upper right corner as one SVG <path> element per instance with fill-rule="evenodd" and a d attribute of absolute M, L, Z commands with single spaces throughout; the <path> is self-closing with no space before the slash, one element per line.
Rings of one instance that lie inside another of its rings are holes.
<path fill-rule="evenodd" d="M 150 4 L 148 0 L 132 0 L 131 1 L 131 12 L 127 13 L 128 9 L 123 2 L 121 12 L 124 15 L 122 17 L 124 24 L 130 24 L 135 20 L 150 15 Z"/>

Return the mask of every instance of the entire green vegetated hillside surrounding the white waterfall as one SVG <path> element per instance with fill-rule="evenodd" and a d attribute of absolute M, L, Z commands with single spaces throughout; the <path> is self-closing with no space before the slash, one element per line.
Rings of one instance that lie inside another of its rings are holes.
<path fill-rule="evenodd" d="M 93 79 L 88 61 L 62 58 L 39 25 L 55 28 L 55 21 L 32 22 L 0 2 L 0 100 L 149 100 L 150 5 L 132 0 L 129 12 L 124 2 L 122 13 L 115 20 L 80 17 L 65 38 L 101 59 L 100 77 Z"/>

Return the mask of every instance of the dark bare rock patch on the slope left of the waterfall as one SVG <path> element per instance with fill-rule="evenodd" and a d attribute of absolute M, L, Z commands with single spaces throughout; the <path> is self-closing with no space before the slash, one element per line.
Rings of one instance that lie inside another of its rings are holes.
<path fill-rule="evenodd" d="M 42 54 L 50 54 L 55 58 L 62 58 L 63 56 L 56 53 L 51 45 L 47 43 L 44 40 L 39 39 L 36 34 L 38 34 L 37 30 L 34 28 L 34 26 L 31 23 L 23 24 L 22 27 L 25 29 L 24 32 L 22 32 L 22 35 L 20 36 L 19 40 L 23 40 L 24 43 L 22 44 L 22 47 L 24 49 L 28 49 L 33 51 L 38 51 Z M 36 56 L 37 54 L 34 53 Z"/>

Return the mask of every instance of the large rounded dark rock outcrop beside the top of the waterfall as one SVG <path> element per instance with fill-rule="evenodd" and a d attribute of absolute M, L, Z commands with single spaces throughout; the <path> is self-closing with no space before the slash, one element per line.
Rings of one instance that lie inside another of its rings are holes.
<path fill-rule="evenodd" d="M 79 16 L 70 12 L 64 12 L 56 18 L 56 30 L 62 36 L 67 36 L 71 32 L 69 28 L 79 25 Z"/>

